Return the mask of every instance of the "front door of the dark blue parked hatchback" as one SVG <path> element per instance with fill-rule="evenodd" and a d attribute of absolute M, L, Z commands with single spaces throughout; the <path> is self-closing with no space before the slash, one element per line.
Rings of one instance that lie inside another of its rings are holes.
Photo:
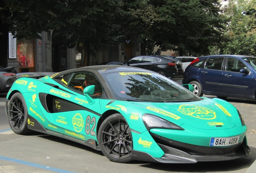
<path fill-rule="evenodd" d="M 222 93 L 235 95 L 250 95 L 252 74 L 240 73 L 241 69 L 249 68 L 239 59 L 227 58 L 226 68 L 222 75 Z"/>

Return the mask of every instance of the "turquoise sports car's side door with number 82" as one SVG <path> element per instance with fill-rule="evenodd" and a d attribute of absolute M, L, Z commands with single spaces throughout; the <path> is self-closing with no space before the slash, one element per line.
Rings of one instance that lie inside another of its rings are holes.
<path fill-rule="evenodd" d="M 95 93 L 93 93 L 95 96 L 91 96 L 95 99 L 89 100 L 83 94 L 83 89 L 86 87 L 85 79 L 87 85 L 89 83 L 89 85 L 95 85 Z M 100 99 L 96 98 L 101 98 L 97 93 L 102 93 L 103 88 L 99 81 L 95 80 L 98 79 L 94 74 L 74 72 L 63 76 L 61 79 L 66 85 L 65 90 L 54 87 L 50 90 L 52 96 L 48 97 L 50 103 L 48 107 L 51 106 L 53 124 L 61 133 L 84 141 L 97 139 L 96 124 L 101 112 L 99 109 Z M 98 84 L 99 86 L 97 86 Z"/>

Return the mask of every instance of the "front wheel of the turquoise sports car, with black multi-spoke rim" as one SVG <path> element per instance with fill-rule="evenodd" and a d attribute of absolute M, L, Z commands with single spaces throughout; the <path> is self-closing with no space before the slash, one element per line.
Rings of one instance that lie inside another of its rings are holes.
<path fill-rule="evenodd" d="M 110 115 L 103 121 L 99 127 L 98 143 L 101 152 L 110 161 L 118 163 L 132 161 L 132 134 L 121 114 Z"/>

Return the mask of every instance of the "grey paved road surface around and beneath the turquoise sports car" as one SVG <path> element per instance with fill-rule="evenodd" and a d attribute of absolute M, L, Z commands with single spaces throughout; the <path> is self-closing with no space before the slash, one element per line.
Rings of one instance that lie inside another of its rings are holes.
<path fill-rule="evenodd" d="M 181 80 L 175 81 L 181 84 Z M 254 100 L 226 99 L 242 113 L 246 121 L 248 144 L 252 151 L 250 157 L 196 164 L 159 164 L 142 161 L 120 164 L 109 161 L 100 151 L 62 138 L 41 133 L 30 136 L 14 134 L 4 112 L 5 100 L 5 95 L 0 95 L 1 173 L 245 173 L 256 160 Z"/>

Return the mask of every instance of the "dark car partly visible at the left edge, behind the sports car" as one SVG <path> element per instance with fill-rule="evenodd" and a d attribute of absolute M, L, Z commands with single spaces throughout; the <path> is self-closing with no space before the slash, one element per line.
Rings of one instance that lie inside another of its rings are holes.
<path fill-rule="evenodd" d="M 13 82 L 16 80 L 17 71 L 15 67 L 3 68 L 0 66 L 0 93 L 6 93 L 9 91 Z"/>

